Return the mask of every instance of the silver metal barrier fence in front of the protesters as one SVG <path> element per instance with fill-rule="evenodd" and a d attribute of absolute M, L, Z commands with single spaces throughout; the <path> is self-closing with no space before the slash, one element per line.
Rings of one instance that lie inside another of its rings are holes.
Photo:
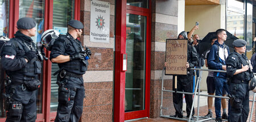
<path fill-rule="evenodd" d="M 225 98 L 225 99 L 229 99 L 229 97 L 227 96 L 216 96 L 216 95 L 206 95 L 206 94 L 200 94 L 200 83 L 201 83 L 201 71 L 216 71 L 216 72 L 223 72 L 225 73 L 226 71 L 224 70 L 211 70 L 211 69 L 197 69 L 197 68 L 191 68 L 192 70 L 199 70 L 200 73 L 199 73 L 199 79 L 198 81 L 196 82 L 196 86 L 195 86 L 195 90 L 194 92 L 183 92 L 183 91 L 172 91 L 172 90 L 166 90 L 163 85 L 164 85 L 164 70 L 165 68 L 163 68 L 162 70 L 162 77 L 160 77 L 160 81 L 162 80 L 162 90 L 161 90 L 161 105 L 160 105 L 160 117 L 167 117 L 167 118 L 170 118 L 170 119 L 177 119 L 177 120 L 185 120 L 185 121 L 194 121 L 194 120 L 191 120 L 191 117 L 192 117 L 192 110 L 193 110 L 193 107 L 194 107 L 194 104 L 195 104 L 195 96 L 197 95 L 197 116 L 196 116 L 196 121 L 207 121 L 207 120 L 211 120 L 211 119 L 214 119 L 213 117 L 204 117 L 204 116 L 199 116 L 199 108 L 200 108 L 200 96 L 212 96 L 214 98 Z M 256 73 L 254 73 L 255 75 Z M 197 92 L 197 87 L 198 87 L 198 91 Z M 189 118 L 188 119 L 182 119 L 182 118 L 178 118 L 178 117 L 171 117 L 170 115 L 163 115 L 163 110 L 168 110 L 168 108 L 164 108 L 163 107 L 163 92 L 175 92 L 175 93 L 180 93 L 180 94 L 191 94 L 191 95 L 194 95 L 193 96 L 193 103 L 192 103 L 192 108 L 191 108 L 191 112 L 190 112 L 190 115 L 189 115 Z M 250 100 L 250 102 L 253 102 L 253 104 L 251 105 L 251 113 L 250 113 L 250 121 L 252 119 L 252 115 L 253 115 L 253 107 L 254 107 L 254 102 L 255 102 L 255 95 L 256 95 L 256 92 L 254 92 L 254 95 L 253 95 L 253 100 Z M 256 111 L 255 111 L 255 116 L 256 116 Z M 199 120 L 199 117 L 200 118 L 203 118 L 203 120 Z"/>

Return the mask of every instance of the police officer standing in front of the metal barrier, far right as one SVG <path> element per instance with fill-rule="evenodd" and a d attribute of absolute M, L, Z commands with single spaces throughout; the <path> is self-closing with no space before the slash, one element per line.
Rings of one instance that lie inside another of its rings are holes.
<path fill-rule="evenodd" d="M 249 114 L 248 82 L 251 79 L 249 60 L 245 56 L 246 41 L 233 41 L 234 52 L 226 60 L 226 73 L 229 80 L 231 110 L 229 121 L 246 121 Z"/>

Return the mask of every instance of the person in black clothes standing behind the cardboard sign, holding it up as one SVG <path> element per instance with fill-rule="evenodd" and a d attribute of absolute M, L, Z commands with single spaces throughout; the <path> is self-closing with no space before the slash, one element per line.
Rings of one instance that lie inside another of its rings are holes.
<path fill-rule="evenodd" d="M 187 32 L 183 31 L 179 34 L 178 39 L 188 39 Z M 193 92 L 193 70 L 190 68 L 194 68 L 198 62 L 197 52 L 192 45 L 188 44 L 187 49 L 187 75 L 177 75 L 177 91 L 184 91 L 184 92 Z M 173 89 L 174 89 L 174 82 L 173 82 Z M 192 108 L 193 102 L 193 95 L 185 94 L 185 100 L 187 103 L 186 111 L 187 117 L 189 117 Z M 183 94 L 173 93 L 173 102 L 175 108 L 175 115 L 172 117 L 183 117 Z M 194 115 L 195 111 L 192 110 L 192 116 Z"/>

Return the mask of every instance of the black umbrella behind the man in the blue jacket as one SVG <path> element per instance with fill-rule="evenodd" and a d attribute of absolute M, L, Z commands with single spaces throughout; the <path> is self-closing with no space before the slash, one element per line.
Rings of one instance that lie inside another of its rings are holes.
<path fill-rule="evenodd" d="M 233 41 L 234 40 L 237 40 L 238 38 L 234 35 L 232 35 L 230 32 L 226 31 L 226 41 L 224 41 L 224 43 L 226 45 L 228 45 L 229 47 L 229 51 L 230 53 L 234 51 L 234 48 L 233 48 Z M 199 43 L 199 53 L 200 53 L 200 56 L 204 55 L 205 52 L 207 52 L 210 47 L 212 47 L 212 45 L 210 45 L 210 43 L 212 43 L 212 38 L 216 36 L 215 32 L 209 32 L 203 40 L 201 40 L 201 43 Z"/>

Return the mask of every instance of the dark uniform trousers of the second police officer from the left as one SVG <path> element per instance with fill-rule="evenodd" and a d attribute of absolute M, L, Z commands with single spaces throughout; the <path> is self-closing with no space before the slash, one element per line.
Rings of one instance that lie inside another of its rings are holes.
<path fill-rule="evenodd" d="M 82 115 L 82 108 L 84 102 L 84 81 L 81 78 L 69 77 L 65 88 L 70 89 L 70 100 L 67 104 L 59 103 L 57 108 L 57 115 L 55 122 L 57 121 L 79 121 Z M 76 89 L 76 90 L 74 90 Z M 73 98 L 73 99 L 72 99 Z"/>

